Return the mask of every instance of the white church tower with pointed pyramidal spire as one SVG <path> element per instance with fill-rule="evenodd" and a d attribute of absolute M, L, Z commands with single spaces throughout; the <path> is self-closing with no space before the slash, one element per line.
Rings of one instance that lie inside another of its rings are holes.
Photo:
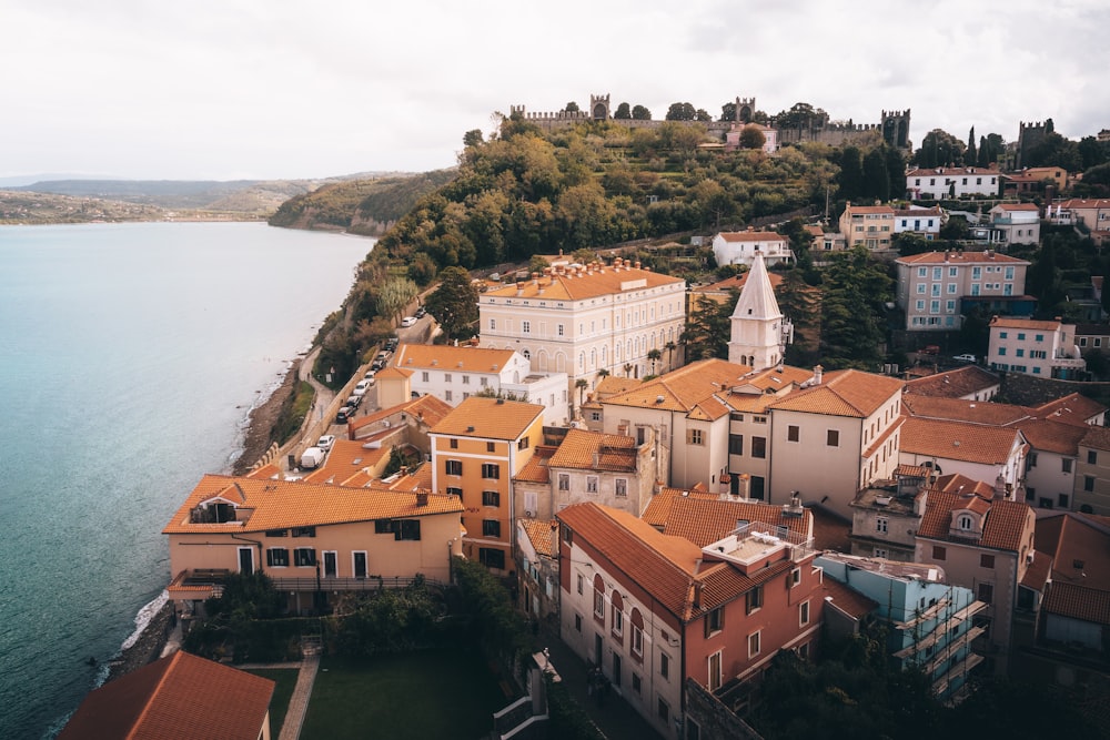
<path fill-rule="evenodd" d="M 783 362 L 785 346 L 794 339 L 794 325 L 778 310 L 761 252 L 756 252 L 729 321 L 728 362 L 757 371 Z"/>

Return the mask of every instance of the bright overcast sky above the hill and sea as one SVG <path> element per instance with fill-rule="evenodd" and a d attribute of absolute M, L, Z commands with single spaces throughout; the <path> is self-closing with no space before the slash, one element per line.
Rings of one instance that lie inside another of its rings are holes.
<path fill-rule="evenodd" d="M 1107 0 L 0 0 L 0 178 L 425 171 L 591 93 L 1080 139 L 1110 128 L 1107 28 Z"/>

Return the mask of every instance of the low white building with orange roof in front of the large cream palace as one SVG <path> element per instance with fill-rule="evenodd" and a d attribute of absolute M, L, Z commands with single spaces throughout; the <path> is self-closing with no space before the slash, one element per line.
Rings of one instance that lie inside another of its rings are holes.
<path fill-rule="evenodd" d="M 569 420 L 566 373 L 533 373 L 528 359 L 512 349 L 402 344 L 391 365 L 405 372 L 381 377 L 379 394 L 390 399 L 432 395 L 457 406 L 473 395 L 490 394 L 542 405 L 548 426 Z M 404 384 L 406 392 L 391 393 L 385 387 L 391 383 Z"/>

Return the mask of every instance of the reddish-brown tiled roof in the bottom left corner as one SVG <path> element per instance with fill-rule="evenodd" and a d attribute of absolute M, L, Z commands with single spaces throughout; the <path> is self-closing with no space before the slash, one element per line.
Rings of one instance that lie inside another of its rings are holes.
<path fill-rule="evenodd" d="M 59 740 L 256 740 L 274 682 L 179 650 L 93 690 Z"/>

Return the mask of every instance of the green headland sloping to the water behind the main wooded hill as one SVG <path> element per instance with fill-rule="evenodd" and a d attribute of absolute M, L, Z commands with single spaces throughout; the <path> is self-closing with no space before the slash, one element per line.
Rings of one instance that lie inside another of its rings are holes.
<path fill-rule="evenodd" d="M 422 174 L 366 175 L 329 183 L 282 203 L 270 225 L 290 229 L 335 229 L 380 235 L 416 202 L 454 180 L 455 170 Z"/>

